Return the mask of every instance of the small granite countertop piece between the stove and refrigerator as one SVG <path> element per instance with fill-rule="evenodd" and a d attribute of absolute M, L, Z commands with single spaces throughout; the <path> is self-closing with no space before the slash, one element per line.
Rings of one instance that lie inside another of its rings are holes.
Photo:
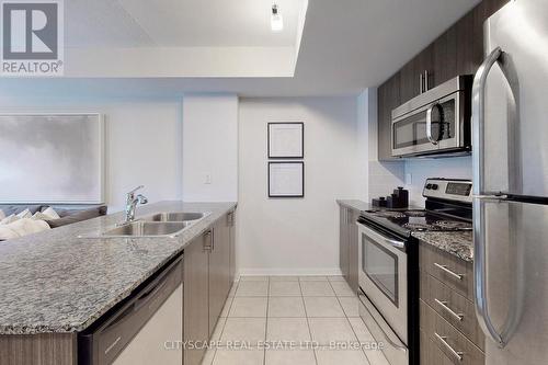
<path fill-rule="evenodd" d="M 473 240 L 471 231 L 457 232 L 412 232 L 421 241 L 448 252 L 468 262 L 473 262 Z"/>

